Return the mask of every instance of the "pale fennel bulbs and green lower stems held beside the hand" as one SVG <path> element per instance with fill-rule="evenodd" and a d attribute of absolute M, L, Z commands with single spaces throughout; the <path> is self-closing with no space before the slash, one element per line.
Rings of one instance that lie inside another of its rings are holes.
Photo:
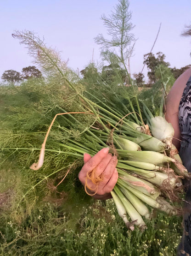
<path fill-rule="evenodd" d="M 137 124 L 117 115 L 112 108 L 107 110 L 91 103 L 99 108 L 99 113 L 95 115 L 102 128 L 92 125 L 84 131 L 80 142 L 70 138 L 65 143 L 53 142 L 59 148 L 57 152 L 79 159 L 84 153 L 93 156 L 103 147 L 110 146 L 110 152 L 118 156 L 119 174 L 111 194 L 119 215 L 129 229 L 133 230 L 134 225 L 140 230 L 146 228 L 143 218 L 150 218 L 152 208 L 167 214 L 180 214 L 180 209 L 173 206 L 172 200 L 174 196 L 178 198 L 182 183 L 169 167 L 176 160 L 165 155 L 165 143 L 141 132 L 144 129 L 140 122 Z M 75 117 L 72 117 L 74 120 Z M 75 121 L 78 122 L 77 119 Z M 67 131 L 66 127 L 60 129 Z"/>

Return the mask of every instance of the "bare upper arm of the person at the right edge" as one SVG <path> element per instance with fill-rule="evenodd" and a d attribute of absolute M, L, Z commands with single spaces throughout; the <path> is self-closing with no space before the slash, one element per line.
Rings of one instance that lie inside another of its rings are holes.
<path fill-rule="evenodd" d="M 165 118 L 174 127 L 173 144 L 177 149 L 180 148 L 180 127 L 179 127 L 179 104 L 185 89 L 186 83 L 191 76 L 191 68 L 186 70 L 177 80 L 174 82 L 165 102 Z"/>

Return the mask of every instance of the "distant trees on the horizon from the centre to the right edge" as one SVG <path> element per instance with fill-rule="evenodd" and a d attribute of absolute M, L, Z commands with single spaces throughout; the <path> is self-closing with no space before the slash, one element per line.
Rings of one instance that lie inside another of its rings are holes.
<path fill-rule="evenodd" d="M 158 52 L 156 56 L 152 53 L 144 54 L 143 64 L 146 65 L 148 70 L 148 82 L 146 83 L 144 81 L 145 76 L 141 72 L 133 74 L 133 82 L 139 87 L 144 85 L 151 87 L 154 83 L 157 82 L 157 80 L 161 78 L 161 74 L 159 74 L 158 71 L 159 68 L 163 71 L 163 74 L 166 73 L 166 75 L 168 74 L 169 76 L 173 76 L 174 79 L 177 79 L 186 69 L 191 67 L 191 65 L 186 65 L 180 69 L 176 67 L 172 68 L 170 67 L 170 63 L 167 62 L 165 58 L 166 56 L 162 52 Z M 117 62 L 113 62 L 110 65 L 104 65 L 101 72 L 99 72 L 96 66 L 91 63 L 90 65 L 86 66 L 85 69 L 80 71 L 80 73 L 86 80 L 96 80 L 99 75 L 101 76 L 102 80 L 107 82 L 113 82 L 116 80 L 115 77 L 119 76 L 121 77 L 124 84 L 128 85 L 127 73 L 125 69 Z"/>

